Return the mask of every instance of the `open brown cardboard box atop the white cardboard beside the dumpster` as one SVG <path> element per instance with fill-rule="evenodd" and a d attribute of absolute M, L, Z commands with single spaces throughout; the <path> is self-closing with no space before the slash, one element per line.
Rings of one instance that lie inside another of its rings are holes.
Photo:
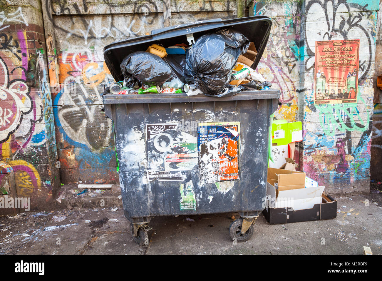
<path fill-rule="evenodd" d="M 290 190 L 305 188 L 304 172 L 268 168 L 267 182 L 271 185 L 277 183 L 277 190 Z"/>

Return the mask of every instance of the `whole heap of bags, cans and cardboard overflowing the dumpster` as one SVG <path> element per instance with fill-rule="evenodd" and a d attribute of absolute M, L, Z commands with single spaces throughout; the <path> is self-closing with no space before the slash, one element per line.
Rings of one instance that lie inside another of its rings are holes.
<path fill-rule="evenodd" d="M 151 44 L 146 52 L 127 55 L 120 64 L 123 81 L 110 84 L 105 93 L 229 97 L 272 86 L 251 68 L 256 46 L 239 31 L 220 29 L 192 43 Z"/>

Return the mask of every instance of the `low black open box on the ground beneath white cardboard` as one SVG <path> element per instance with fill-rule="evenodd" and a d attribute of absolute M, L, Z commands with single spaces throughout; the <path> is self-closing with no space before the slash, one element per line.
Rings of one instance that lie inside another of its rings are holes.
<path fill-rule="evenodd" d="M 337 217 L 337 200 L 322 193 L 321 203 L 314 204 L 310 209 L 293 210 L 293 208 L 271 208 L 265 206 L 265 219 L 270 224 L 297 223 L 301 221 L 317 221 Z"/>

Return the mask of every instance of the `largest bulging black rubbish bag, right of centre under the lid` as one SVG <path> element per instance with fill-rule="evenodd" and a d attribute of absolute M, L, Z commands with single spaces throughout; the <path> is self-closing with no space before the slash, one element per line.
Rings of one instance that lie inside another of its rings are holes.
<path fill-rule="evenodd" d="M 239 55 L 248 47 L 248 38 L 233 28 L 201 36 L 186 55 L 186 82 L 205 94 L 221 95 Z"/>

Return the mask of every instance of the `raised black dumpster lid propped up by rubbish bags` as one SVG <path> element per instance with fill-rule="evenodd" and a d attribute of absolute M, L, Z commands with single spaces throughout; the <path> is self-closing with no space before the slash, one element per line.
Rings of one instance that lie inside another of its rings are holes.
<path fill-rule="evenodd" d="M 120 64 L 127 55 L 133 52 L 145 51 L 154 43 L 162 44 L 165 47 L 181 43 L 190 45 L 191 41 L 195 42 L 204 34 L 214 32 L 220 28 L 233 27 L 243 33 L 249 41 L 254 42 L 257 56 L 251 67 L 256 69 L 267 45 L 271 25 L 272 21 L 267 16 L 251 16 L 227 20 L 220 18 L 210 19 L 155 29 L 151 32 L 151 35 L 134 37 L 105 46 L 105 63 L 115 81 L 121 81 L 123 80 L 123 75 Z"/>

